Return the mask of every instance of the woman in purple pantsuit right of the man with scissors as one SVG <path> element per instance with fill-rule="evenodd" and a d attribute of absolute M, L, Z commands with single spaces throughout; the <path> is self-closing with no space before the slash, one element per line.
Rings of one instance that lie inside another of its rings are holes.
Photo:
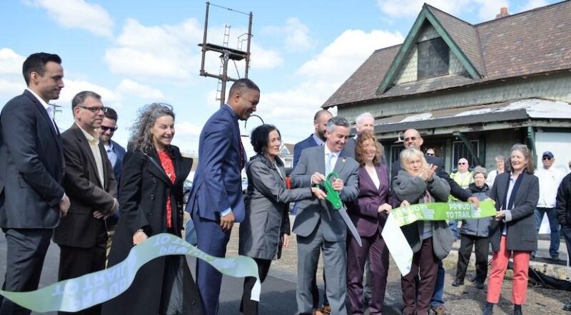
<path fill-rule="evenodd" d="M 373 133 L 359 135 L 355 160 L 359 162 L 359 195 L 349 205 L 349 216 L 359 232 L 363 247 L 348 235 L 347 289 L 350 314 L 365 314 L 363 306 L 363 270 L 369 257 L 372 296 L 369 314 L 382 314 L 388 275 L 388 248 L 380 236 L 388 212 L 395 201 L 390 197 L 387 166 L 381 164 L 383 147 Z M 398 205 L 398 204 L 397 204 Z"/>

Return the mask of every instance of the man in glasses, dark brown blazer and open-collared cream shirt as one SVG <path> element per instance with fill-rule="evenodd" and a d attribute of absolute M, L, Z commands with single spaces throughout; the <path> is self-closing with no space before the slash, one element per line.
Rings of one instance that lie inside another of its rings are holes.
<path fill-rule="evenodd" d="M 61 135 L 66 160 L 64 188 L 71 207 L 54 230 L 54 242 L 60 248 L 59 281 L 105 269 L 105 219 L 118 210 L 113 169 L 97 133 L 106 111 L 101 96 L 80 92 L 71 100 L 71 110 L 75 123 Z M 101 305 L 81 311 L 100 313 Z"/>

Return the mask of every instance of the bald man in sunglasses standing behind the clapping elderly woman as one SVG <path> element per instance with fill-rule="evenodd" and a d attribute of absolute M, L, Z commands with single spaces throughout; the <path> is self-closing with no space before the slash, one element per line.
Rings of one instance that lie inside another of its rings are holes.
<path fill-rule="evenodd" d="M 403 142 L 403 145 L 405 145 L 405 148 L 407 149 L 415 148 L 420 150 L 420 146 L 423 145 L 424 143 L 423 138 L 420 137 L 420 133 L 416 129 L 406 130 L 404 137 L 405 140 Z M 450 178 L 450 175 L 448 175 L 448 172 L 446 172 L 446 170 L 444 169 L 443 162 L 440 158 L 434 155 L 425 155 L 424 158 L 429 165 L 437 166 L 435 173 L 436 175 L 438 175 L 438 177 L 443 178 L 444 180 L 446 180 L 446 182 L 448 182 L 448 185 L 450 185 L 450 195 L 453 195 L 458 200 L 464 202 L 465 201 L 473 202 L 475 203 L 476 207 L 480 205 L 480 202 L 477 200 L 477 197 L 471 196 L 470 193 L 468 193 L 466 190 L 460 187 L 460 185 L 458 185 L 458 183 L 455 182 L 455 180 Z M 396 160 L 395 162 L 393 162 L 393 165 L 391 165 L 391 180 L 395 178 L 395 176 L 398 174 L 398 171 L 400 170 L 401 170 L 400 160 Z M 445 275 L 444 268 L 442 265 L 442 261 L 440 261 L 440 263 L 438 264 L 438 275 L 436 277 L 434 294 L 432 300 L 430 301 L 430 306 L 432 307 L 433 313 L 436 315 L 447 314 L 446 308 L 444 306 L 445 304 L 444 275 Z"/>

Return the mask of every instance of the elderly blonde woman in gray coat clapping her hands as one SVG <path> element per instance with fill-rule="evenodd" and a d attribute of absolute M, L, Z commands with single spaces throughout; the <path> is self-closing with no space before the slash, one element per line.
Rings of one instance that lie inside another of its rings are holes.
<path fill-rule="evenodd" d="M 403 170 L 393 180 L 393 194 L 398 200 L 410 205 L 448 201 L 448 182 L 435 174 L 436 166 L 428 165 L 422 152 L 414 148 L 403 150 L 400 166 Z M 416 221 L 401 229 L 414 252 L 410 272 L 400 280 L 403 314 L 425 315 L 434 291 L 438 262 L 448 255 L 454 238 L 444 220 Z M 420 278 L 418 291 L 416 276 Z"/>

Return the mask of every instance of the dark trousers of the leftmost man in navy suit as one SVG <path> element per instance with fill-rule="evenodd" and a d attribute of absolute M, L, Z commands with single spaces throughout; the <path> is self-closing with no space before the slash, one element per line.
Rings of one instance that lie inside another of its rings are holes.
<path fill-rule="evenodd" d="M 41 269 L 53 229 L 2 229 L 6 234 L 5 291 L 34 291 L 38 289 Z M 0 296 L 0 314 L 27 315 L 29 309 Z"/>

